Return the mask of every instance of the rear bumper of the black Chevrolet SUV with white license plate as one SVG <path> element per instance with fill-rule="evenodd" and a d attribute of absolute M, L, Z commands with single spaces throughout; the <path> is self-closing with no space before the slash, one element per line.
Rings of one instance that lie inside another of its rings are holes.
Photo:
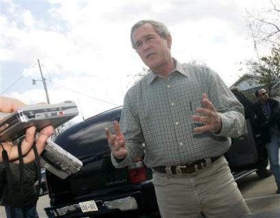
<path fill-rule="evenodd" d="M 140 214 L 148 210 L 157 210 L 157 202 L 154 189 L 144 188 L 120 195 L 99 198 L 87 197 L 79 200 L 79 202 L 50 206 L 44 208 L 44 210 L 48 217 L 63 218 L 107 215 L 110 213 L 121 214 L 128 211 Z"/>

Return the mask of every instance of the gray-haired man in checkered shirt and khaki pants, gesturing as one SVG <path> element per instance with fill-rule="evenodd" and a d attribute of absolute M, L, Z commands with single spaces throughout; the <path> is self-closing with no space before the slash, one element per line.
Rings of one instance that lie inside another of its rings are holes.
<path fill-rule="evenodd" d="M 222 156 L 246 131 L 242 105 L 216 72 L 171 56 L 163 23 L 139 21 L 131 44 L 150 72 L 127 92 L 115 133 L 105 128 L 114 166 L 144 156 L 162 218 L 248 214 Z"/>

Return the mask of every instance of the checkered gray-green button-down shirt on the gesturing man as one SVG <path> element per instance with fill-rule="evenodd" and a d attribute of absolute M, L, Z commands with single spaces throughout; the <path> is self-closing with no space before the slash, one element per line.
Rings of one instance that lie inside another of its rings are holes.
<path fill-rule="evenodd" d="M 203 124 L 192 120 L 202 107 L 206 93 L 222 120 L 218 135 L 193 129 Z M 216 72 L 206 66 L 176 62 L 167 79 L 149 72 L 125 96 L 120 118 L 127 157 L 115 167 L 123 167 L 144 154 L 148 167 L 183 165 L 219 156 L 231 145 L 229 137 L 246 131 L 244 109 Z M 144 143 L 144 144 L 143 144 Z"/>

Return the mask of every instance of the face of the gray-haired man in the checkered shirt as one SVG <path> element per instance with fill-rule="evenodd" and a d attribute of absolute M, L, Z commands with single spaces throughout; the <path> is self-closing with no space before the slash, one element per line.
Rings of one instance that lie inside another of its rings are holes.
<path fill-rule="evenodd" d="M 140 55 L 144 64 L 151 70 L 164 67 L 170 61 L 171 36 L 168 34 L 166 39 L 161 38 L 153 29 L 153 26 L 146 23 L 138 27 L 133 32 L 133 42 L 136 51 Z"/>

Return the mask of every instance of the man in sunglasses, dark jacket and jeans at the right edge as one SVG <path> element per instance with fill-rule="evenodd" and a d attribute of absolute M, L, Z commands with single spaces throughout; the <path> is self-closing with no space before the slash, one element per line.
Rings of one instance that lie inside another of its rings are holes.
<path fill-rule="evenodd" d="M 260 139 L 266 144 L 270 170 L 275 176 L 277 185 L 276 193 L 280 193 L 280 105 L 279 101 L 269 98 L 265 89 L 256 90 L 257 103 L 254 103 L 253 110 L 257 115 L 258 131 Z"/>

